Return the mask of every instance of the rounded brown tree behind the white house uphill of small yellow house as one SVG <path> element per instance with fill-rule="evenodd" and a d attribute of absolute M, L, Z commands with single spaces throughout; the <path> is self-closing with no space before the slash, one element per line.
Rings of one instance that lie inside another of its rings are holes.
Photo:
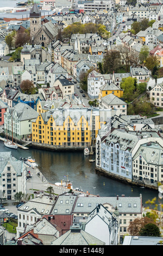
<path fill-rule="evenodd" d="M 116 72 L 121 65 L 121 53 L 117 50 L 109 50 L 104 54 L 103 71 L 105 74 Z"/>

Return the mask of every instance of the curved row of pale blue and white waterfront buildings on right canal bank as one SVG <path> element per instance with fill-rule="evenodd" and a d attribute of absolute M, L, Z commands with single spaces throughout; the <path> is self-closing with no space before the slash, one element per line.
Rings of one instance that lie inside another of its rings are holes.
<path fill-rule="evenodd" d="M 105 132 L 96 139 L 96 168 L 125 182 L 157 187 L 163 178 L 162 145 L 155 130 Z"/>

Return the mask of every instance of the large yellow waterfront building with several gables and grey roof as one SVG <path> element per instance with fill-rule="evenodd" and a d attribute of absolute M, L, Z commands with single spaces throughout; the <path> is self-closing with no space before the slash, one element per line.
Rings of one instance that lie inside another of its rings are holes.
<path fill-rule="evenodd" d="M 32 141 L 54 147 L 90 147 L 95 143 L 101 125 L 109 120 L 107 111 L 62 108 L 39 113 L 32 123 Z"/>

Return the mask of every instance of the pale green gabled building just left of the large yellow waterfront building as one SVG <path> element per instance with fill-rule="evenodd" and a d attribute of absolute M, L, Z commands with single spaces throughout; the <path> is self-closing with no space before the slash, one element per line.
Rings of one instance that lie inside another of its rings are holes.
<path fill-rule="evenodd" d="M 19 102 L 4 113 L 4 133 L 15 139 L 32 137 L 32 121 L 39 113 L 26 103 Z M 8 130 L 7 130 L 8 129 Z"/>

